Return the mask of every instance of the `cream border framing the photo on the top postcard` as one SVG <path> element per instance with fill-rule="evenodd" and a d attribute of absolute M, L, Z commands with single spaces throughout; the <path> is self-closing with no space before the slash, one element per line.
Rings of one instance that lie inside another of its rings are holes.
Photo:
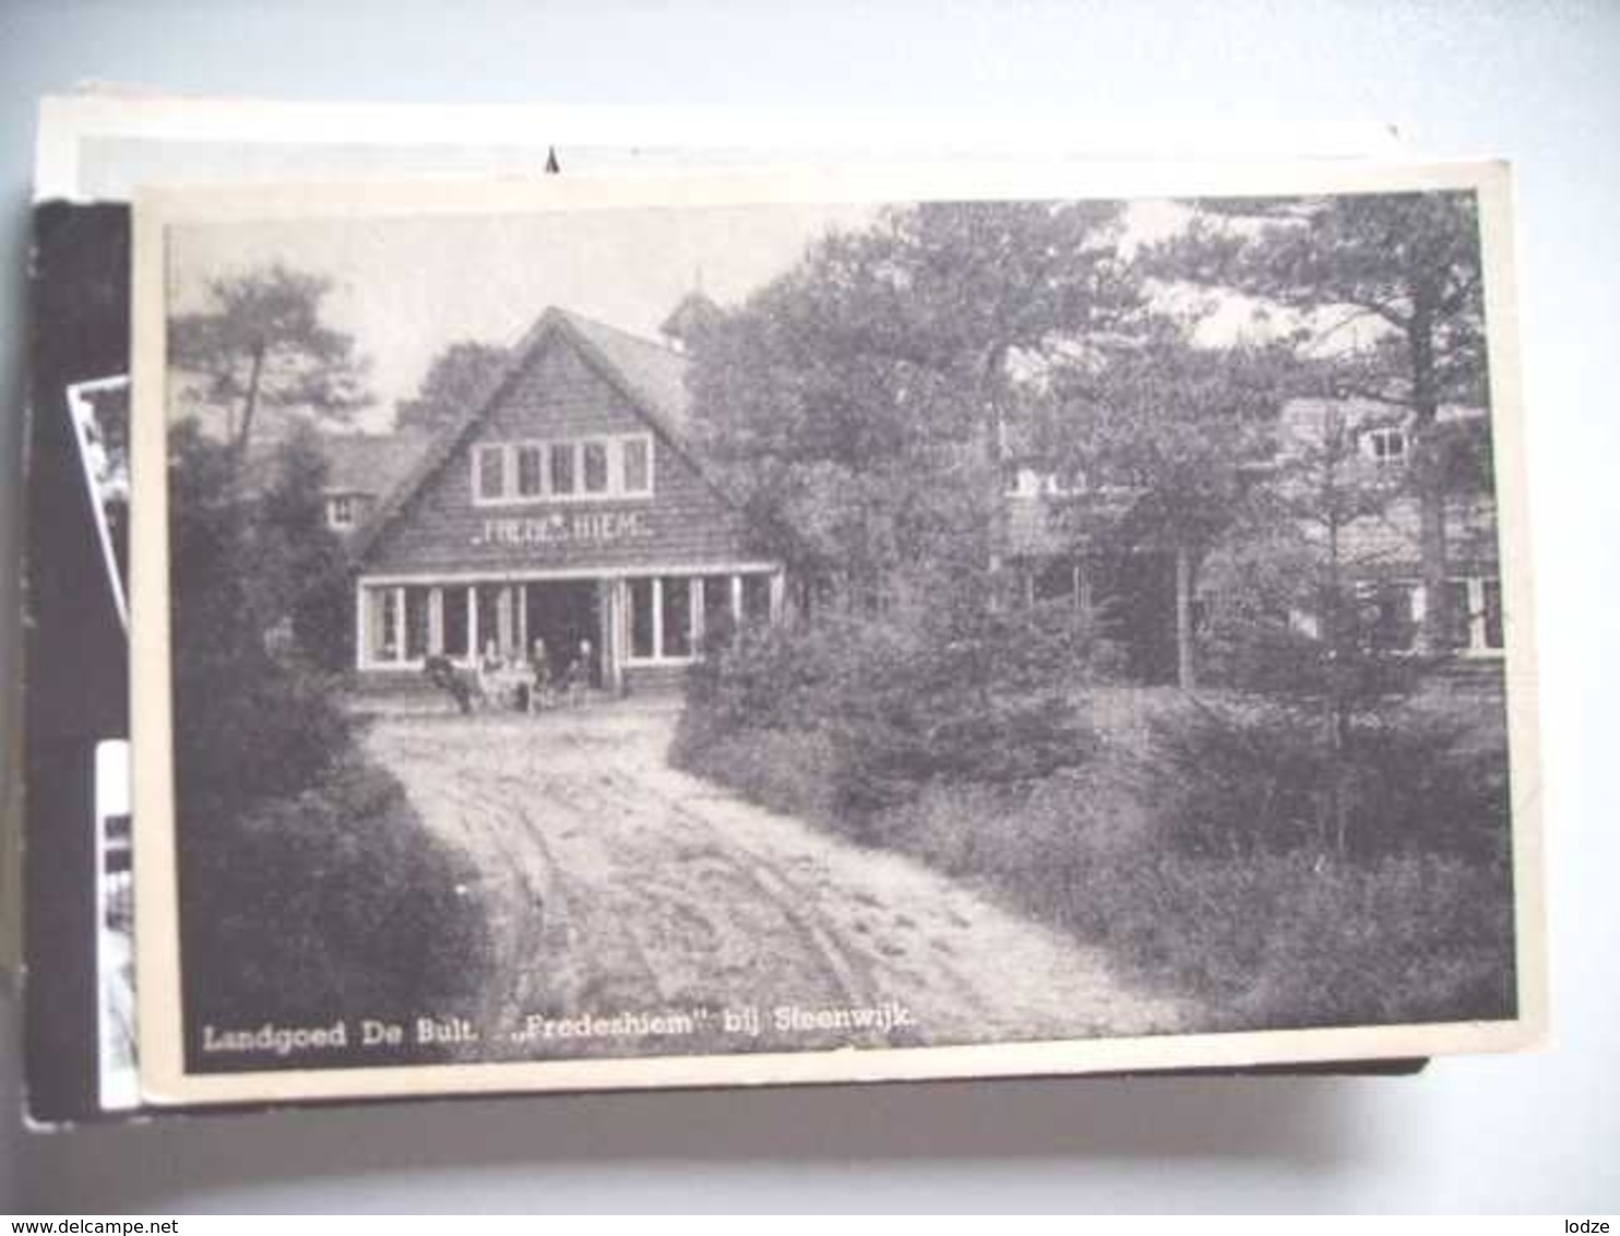
<path fill-rule="evenodd" d="M 1502 583 L 1518 1016 L 1511 1021 L 1192 1034 L 724 1056 L 408 1064 L 193 1074 L 185 1068 L 170 755 L 165 478 L 165 233 L 178 222 L 1066 198 L 1286 196 L 1476 190 L 1486 267 Z M 295 1098 L 867 1082 L 1388 1059 L 1539 1045 L 1547 1027 L 1544 857 L 1536 727 L 1524 439 L 1505 164 L 941 164 L 784 167 L 726 175 L 616 173 L 539 181 L 442 181 L 152 191 L 136 198 L 133 280 L 131 700 L 136 938 L 143 1095 L 154 1105 Z"/>

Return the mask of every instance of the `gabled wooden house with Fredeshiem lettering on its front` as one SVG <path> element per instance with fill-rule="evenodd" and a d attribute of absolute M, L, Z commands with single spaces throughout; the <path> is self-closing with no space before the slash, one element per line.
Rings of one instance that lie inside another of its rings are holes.
<path fill-rule="evenodd" d="M 684 369 L 671 347 L 548 309 L 355 533 L 358 671 L 543 640 L 622 690 L 779 614 L 781 564 L 690 449 Z"/>

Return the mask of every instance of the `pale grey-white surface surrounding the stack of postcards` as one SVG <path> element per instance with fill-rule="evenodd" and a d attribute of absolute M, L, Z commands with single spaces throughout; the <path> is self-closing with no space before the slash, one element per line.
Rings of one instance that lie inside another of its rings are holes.
<path fill-rule="evenodd" d="M 0 0 L 0 392 L 21 402 L 34 100 L 214 94 L 622 102 L 1079 121 L 1393 120 L 1518 165 L 1555 1046 L 1414 1079 L 1176 1079 L 606 1095 L 0 1136 L 0 1208 L 663 1205 L 1620 1208 L 1620 10 L 1607 3 L 904 0 L 144 5 Z M 97 374 L 99 376 L 99 374 Z M 0 416 L 0 680 L 15 706 L 19 421 Z M 6 795 L 16 722 L 6 714 Z M 10 873 L 8 873 L 10 878 Z M 5 1022 L 5 1095 L 21 1034 Z M 16 1103 L 6 1098 L 6 1106 Z"/>

